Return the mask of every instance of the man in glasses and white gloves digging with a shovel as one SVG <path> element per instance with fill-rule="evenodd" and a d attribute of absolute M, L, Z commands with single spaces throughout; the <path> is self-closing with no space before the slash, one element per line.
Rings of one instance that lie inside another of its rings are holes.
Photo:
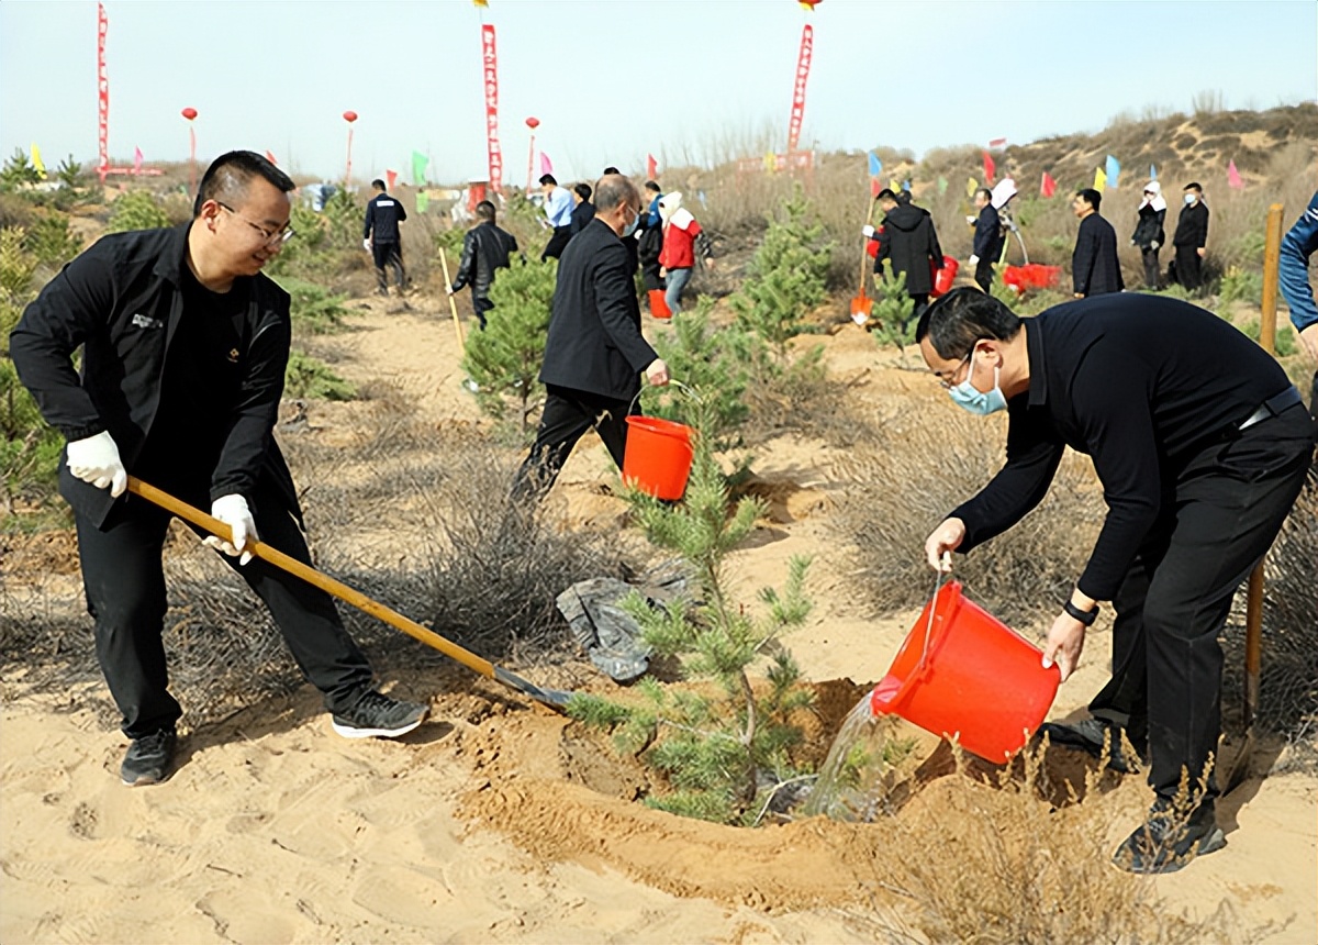
<path fill-rule="evenodd" d="M 210 536 L 270 609 L 303 675 L 348 738 L 401 735 L 427 706 L 374 691 L 333 602 L 261 559 L 260 539 L 310 564 L 293 477 L 273 439 L 289 360 L 289 295 L 261 269 L 293 237 L 283 171 L 252 152 L 207 169 L 192 220 L 117 233 L 70 262 L 28 306 L 11 355 L 69 440 L 59 492 L 74 510 L 96 656 L 130 739 L 125 784 L 170 774 L 182 709 L 161 634 L 170 515 L 125 496 L 128 473 L 211 514 Z M 72 355 L 83 349 L 82 372 Z"/>

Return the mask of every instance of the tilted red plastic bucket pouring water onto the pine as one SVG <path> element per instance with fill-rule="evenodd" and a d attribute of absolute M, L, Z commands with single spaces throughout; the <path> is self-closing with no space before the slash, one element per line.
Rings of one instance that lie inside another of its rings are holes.
<path fill-rule="evenodd" d="M 949 581 L 924 606 L 888 675 L 874 687 L 870 709 L 956 737 L 966 751 L 1002 763 L 1029 741 L 1057 695 L 1061 673 L 1041 660 L 1039 647 Z"/>

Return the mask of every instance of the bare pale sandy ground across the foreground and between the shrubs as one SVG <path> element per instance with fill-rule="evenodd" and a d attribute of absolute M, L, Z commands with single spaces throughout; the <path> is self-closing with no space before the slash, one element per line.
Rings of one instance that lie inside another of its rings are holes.
<path fill-rule="evenodd" d="M 332 341 L 343 373 L 398 381 L 436 422 L 476 416 L 447 310 L 372 302 L 356 322 Z M 859 331 L 826 344 L 840 373 L 874 362 Z M 874 372 L 858 386 L 892 384 L 907 381 Z M 597 442 L 584 445 L 556 489 L 588 518 L 606 463 Z M 778 584 L 793 554 L 832 561 L 836 540 L 818 444 L 784 439 L 760 456 L 782 502 L 734 558 L 746 593 Z M 915 616 L 865 619 L 836 568 L 818 568 L 811 592 L 811 623 L 788 641 L 809 677 L 882 676 Z M 1103 644 L 1054 716 L 1102 684 Z M 637 774 L 561 718 L 460 671 L 394 681 L 434 693 L 432 721 L 401 742 L 337 738 L 303 689 L 203 729 L 167 784 L 129 791 L 117 779 L 125 741 L 91 705 L 100 692 L 57 705 L 7 680 L 0 940 L 874 941 L 900 921 L 873 899 L 867 863 L 880 851 L 863 826 L 738 832 L 643 811 L 623 800 Z M 1227 903 L 1242 929 L 1268 927 L 1265 940 L 1318 940 L 1315 801 L 1313 778 L 1248 784 L 1223 805 L 1227 850 L 1159 880 L 1166 907 L 1209 915 Z M 1111 844 L 1147 796 L 1127 779 L 1089 803 L 1111 813 Z"/>

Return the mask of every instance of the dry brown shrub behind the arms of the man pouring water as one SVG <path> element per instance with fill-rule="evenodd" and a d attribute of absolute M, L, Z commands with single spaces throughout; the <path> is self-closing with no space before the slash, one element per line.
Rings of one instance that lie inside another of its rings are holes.
<path fill-rule="evenodd" d="M 858 445 L 830 472 L 850 484 L 837 519 L 854 546 L 855 587 L 879 612 L 924 604 L 933 581 L 924 539 L 1006 459 L 1006 420 L 924 399 L 895 405 L 879 439 Z M 1039 507 L 990 544 L 958 556 L 957 580 L 1014 626 L 1052 616 L 1079 577 L 1102 518 L 1093 465 L 1068 451 Z"/>

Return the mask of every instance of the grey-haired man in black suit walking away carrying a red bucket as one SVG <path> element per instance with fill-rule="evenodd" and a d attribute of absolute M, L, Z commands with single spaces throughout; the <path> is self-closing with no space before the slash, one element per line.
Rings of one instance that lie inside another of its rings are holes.
<path fill-rule="evenodd" d="M 592 427 L 622 468 L 627 414 L 645 372 L 668 384 L 668 366 L 641 335 L 641 306 L 623 240 L 641 219 L 641 194 L 621 174 L 596 186 L 594 219 L 559 261 L 540 382 L 547 397 L 513 498 L 535 501 L 554 485 L 572 447 Z"/>

